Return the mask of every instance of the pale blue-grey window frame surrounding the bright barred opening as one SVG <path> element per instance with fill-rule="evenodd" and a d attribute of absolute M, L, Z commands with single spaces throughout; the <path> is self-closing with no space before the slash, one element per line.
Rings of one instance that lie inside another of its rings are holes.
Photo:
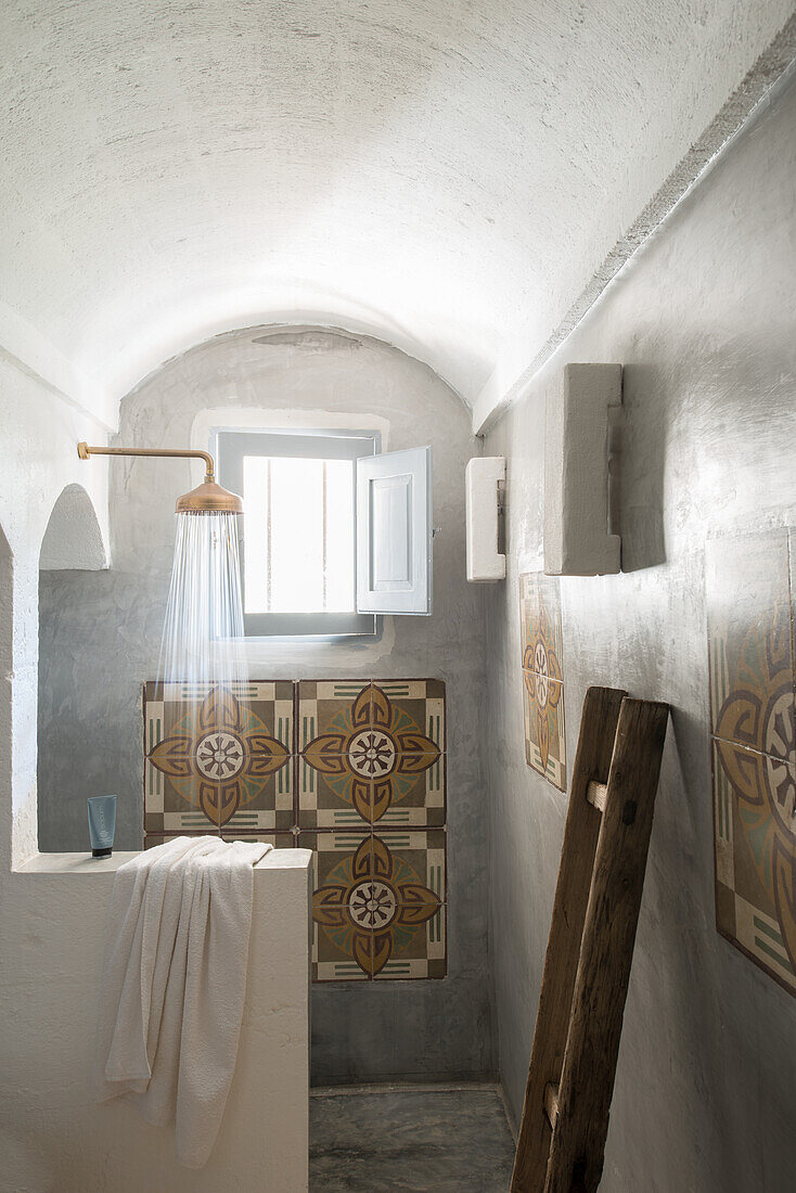
<path fill-rule="evenodd" d="M 243 492 L 243 457 L 292 456 L 302 459 L 352 462 L 351 503 L 353 514 L 353 592 L 357 601 L 357 459 L 381 453 L 378 431 L 337 427 L 214 427 L 212 446 L 218 481 L 233 493 Z M 245 517 L 245 515 L 243 515 Z M 243 635 L 247 638 L 351 638 L 377 637 L 380 619 L 374 613 L 246 613 L 246 533 L 241 536 L 241 589 Z"/>

